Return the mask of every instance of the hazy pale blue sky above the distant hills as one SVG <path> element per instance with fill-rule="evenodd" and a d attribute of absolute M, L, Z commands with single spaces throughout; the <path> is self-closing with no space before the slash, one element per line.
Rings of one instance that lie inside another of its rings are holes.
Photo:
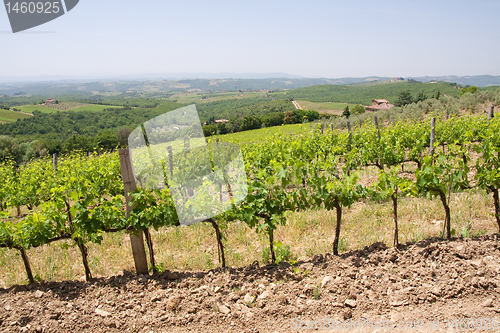
<path fill-rule="evenodd" d="M 499 13 L 498 0 L 80 0 L 12 34 L 0 8 L 0 77 L 500 75 Z"/>

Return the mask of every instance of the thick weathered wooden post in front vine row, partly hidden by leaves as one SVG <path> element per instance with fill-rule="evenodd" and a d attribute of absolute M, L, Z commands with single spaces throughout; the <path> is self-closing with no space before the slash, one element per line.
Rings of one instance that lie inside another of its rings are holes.
<path fill-rule="evenodd" d="M 127 203 L 126 218 L 130 217 L 130 212 L 133 207 L 129 205 L 132 197 L 130 193 L 135 191 L 135 178 L 132 171 L 132 161 L 128 149 L 120 149 L 120 169 L 123 179 L 123 188 L 125 192 L 125 201 Z M 132 244 L 132 254 L 134 255 L 135 270 L 137 274 L 148 274 L 148 261 L 146 259 L 146 250 L 144 249 L 143 231 L 136 230 L 135 235 L 130 235 L 130 243 Z"/>

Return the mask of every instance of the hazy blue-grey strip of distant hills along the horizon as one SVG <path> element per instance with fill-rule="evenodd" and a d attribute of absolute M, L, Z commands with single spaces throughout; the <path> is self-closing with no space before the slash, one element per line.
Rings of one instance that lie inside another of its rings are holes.
<path fill-rule="evenodd" d="M 182 73 L 181 73 L 182 74 Z M 194 75 L 194 74 L 193 74 Z M 208 74 L 207 74 L 208 75 Z M 269 75 L 283 75 L 278 78 L 221 78 L 230 73 L 210 74 L 218 76 L 213 79 L 161 79 L 155 81 L 55 81 L 55 82 L 28 82 L 28 83 L 0 83 L 0 99 L 6 97 L 40 96 L 40 98 L 56 98 L 65 96 L 65 99 L 98 101 L 100 98 L 121 95 L 127 98 L 157 98 L 168 97 L 183 91 L 238 91 L 238 90 L 291 90 L 316 85 L 358 85 L 370 86 L 387 83 L 388 81 L 408 82 L 450 82 L 459 85 L 474 85 L 478 87 L 500 86 L 500 76 L 425 76 L 410 78 L 390 77 L 346 77 L 337 79 L 328 78 L 294 78 L 284 77 L 285 73 L 271 73 Z M 252 74 L 245 74 L 251 77 Z M 261 74 L 255 74 L 258 77 Z M 291 76 L 291 75 L 289 75 Z M 68 96 L 71 95 L 71 96 Z M 60 98 L 62 99 L 62 97 Z"/>

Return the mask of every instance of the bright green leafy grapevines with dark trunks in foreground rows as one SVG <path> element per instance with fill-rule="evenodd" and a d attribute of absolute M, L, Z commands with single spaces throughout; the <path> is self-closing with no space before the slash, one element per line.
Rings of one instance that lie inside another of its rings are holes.
<path fill-rule="evenodd" d="M 335 212 L 331 251 L 342 250 L 343 212 L 358 202 L 383 202 L 393 210 L 393 242 L 398 244 L 398 202 L 403 197 L 434 198 L 442 207 L 442 237 L 457 234 L 450 194 L 472 188 L 491 195 L 494 219 L 500 226 L 500 130 L 498 118 L 462 116 L 438 119 L 434 144 L 431 120 L 399 121 L 376 127 L 367 120 L 352 131 L 318 126 L 300 134 L 276 134 L 266 141 L 242 145 L 248 195 L 212 223 L 228 228 L 242 221 L 269 244 L 273 262 L 275 230 L 286 225 L 287 212 L 326 209 Z M 360 181 L 367 168 L 378 170 L 370 184 Z M 125 197 L 118 154 L 73 154 L 40 159 L 19 167 L 0 167 L 2 223 L 0 246 L 20 251 L 29 270 L 26 250 L 70 240 L 82 253 L 87 278 L 88 246 L 99 244 L 105 233 L 140 229 L 178 228 L 168 190 L 137 189 L 134 209 L 125 214 Z M 361 227 L 361 226 L 360 226 Z M 224 241 L 219 246 L 224 262 Z M 340 245 L 339 245 L 340 243 Z M 30 275 L 31 273 L 28 273 Z M 30 277 L 32 279 L 32 277 Z"/>

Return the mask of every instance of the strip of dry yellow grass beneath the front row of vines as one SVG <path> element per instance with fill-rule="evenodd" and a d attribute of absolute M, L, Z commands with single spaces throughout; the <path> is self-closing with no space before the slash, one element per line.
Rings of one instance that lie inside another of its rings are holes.
<path fill-rule="evenodd" d="M 483 191 L 471 190 L 451 196 L 452 228 L 456 235 L 470 237 L 498 232 L 492 216 L 492 199 Z M 400 243 L 439 236 L 444 210 L 439 200 L 402 198 L 399 207 Z M 335 212 L 309 210 L 287 214 L 287 225 L 279 227 L 275 239 L 290 246 L 293 257 L 310 258 L 332 252 Z M 389 202 L 359 202 L 344 209 L 341 252 L 362 248 L 377 241 L 393 243 L 392 206 Z M 264 235 L 246 224 L 230 223 L 225 230 L 226 260 L 230 266 L 262 262 L 268 246 Z M 219 265 L 215 234 L 211 225 L 152 230 L 156 262 L 166 269 L 210 269 Z M 80 252 L 71 242 L 61 241 L 27 251 L 38 279 L 61 281 L 84 279 Z M 129 236 L 106 234 L 101 245 L 89 245 L 89 263 L 94 277 L 134 270 Z M 0 249 L 0 286 L 27 283 L 18 251 Z"/>

